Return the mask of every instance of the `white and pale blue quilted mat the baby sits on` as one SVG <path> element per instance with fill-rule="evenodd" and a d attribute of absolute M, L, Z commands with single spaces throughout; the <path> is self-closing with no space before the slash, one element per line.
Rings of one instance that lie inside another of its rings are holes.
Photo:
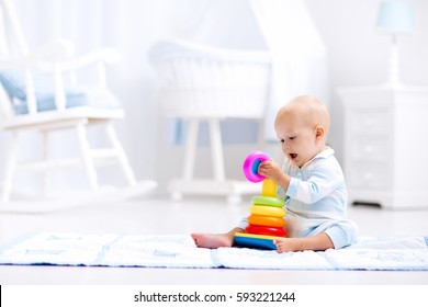
<path fill-rule="evenodd" d="M 428 271 L 426 237 L 360 238 L 341 250 L 201 249 L 190 236 L 33 234 L 0 246 L 0 264 L 251 270 Z"/>

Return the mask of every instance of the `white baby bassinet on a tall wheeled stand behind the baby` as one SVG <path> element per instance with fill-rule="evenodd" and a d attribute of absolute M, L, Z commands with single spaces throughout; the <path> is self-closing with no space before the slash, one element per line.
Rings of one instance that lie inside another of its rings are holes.
<path fill-rule="evenodd" d="M 157 70 L 164 114 L 188 122 L 183 174 L 169 183 L 172 197 L 217 194 L 230 202 L 240 200 L 248 184 L 225 178 L 219 123 L 249 118 L 264 127 L 271 87 L 269 53 L 161 41 L 150 48 L 149 59 Z M 210 129 L 214 178 L 207 180 L 193 175 L 201 121 L 206 121 Z"/>

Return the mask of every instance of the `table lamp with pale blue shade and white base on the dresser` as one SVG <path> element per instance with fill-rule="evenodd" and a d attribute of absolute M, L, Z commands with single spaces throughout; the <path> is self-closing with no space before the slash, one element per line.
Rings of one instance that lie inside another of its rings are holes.
<path fill-rule="evenodd" d="M 398 34 L 410 34 L 415 29 L 412 5 L 406 0 L 382 0 L 379 5 L 376 29 L 392 36 L 388 86 L 399 86 Z"/>

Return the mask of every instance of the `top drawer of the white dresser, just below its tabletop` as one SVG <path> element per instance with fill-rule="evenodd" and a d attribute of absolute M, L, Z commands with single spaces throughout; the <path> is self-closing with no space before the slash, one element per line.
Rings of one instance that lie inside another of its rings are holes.
<path fill-rule="evenodd" d="M 387 109 L 351 109 L 350 132 L 352 135 L 387 135 L 390 116 Z"/>

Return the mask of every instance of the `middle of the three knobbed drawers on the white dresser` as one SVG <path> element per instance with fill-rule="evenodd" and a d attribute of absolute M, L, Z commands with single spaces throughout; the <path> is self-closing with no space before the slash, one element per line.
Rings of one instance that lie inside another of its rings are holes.
<path fill-rule="evenodd" d="M 353 139 L 348 155 L 351 161 L 383 162 L 391 156 L 390 145 L 387 139 Z"/>

